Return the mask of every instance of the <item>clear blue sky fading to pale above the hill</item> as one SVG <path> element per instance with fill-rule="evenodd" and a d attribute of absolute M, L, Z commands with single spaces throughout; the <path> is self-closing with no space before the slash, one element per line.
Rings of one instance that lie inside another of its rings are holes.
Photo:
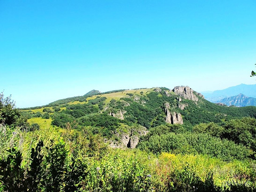
<path fill-rule="evenodd" d="M 255 0 L 0 0 L 0 92 L 33 107 L 92 89 L 255 84 L 255 10 Z"/>

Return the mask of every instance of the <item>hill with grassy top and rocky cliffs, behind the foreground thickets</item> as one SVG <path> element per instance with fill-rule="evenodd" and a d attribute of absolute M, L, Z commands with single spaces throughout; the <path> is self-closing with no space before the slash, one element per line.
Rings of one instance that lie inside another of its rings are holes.
<path fill-rule="evenodd" d="M 191 130 L 199 123 L 221 123 L 256 116 L 254 107 L 218 106 L 189 86 L 105 93 L 93 90 L 89 93 L 95 94 L 61 99 L 47 106 L 23 110 L 23 113 L 31 123 L 37 123 L 36 118 L 47 117 L 52 126 L 65 128 L 68 122 L 76 122 L 76 126 L 92 126 L 93 132 L 102 133 L 108 140 L 117 138 L 118 142 L 112 143 L 114 147 L 131 148 L 138 144 L 140 136 L 159 125 L 181 124 Z"/>

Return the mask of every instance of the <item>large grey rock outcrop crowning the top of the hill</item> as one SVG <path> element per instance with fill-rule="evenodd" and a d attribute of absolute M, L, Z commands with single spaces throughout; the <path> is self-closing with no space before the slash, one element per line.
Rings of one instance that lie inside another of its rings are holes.
<path fill-rule="evenodd" d="M 175 86 L 172 91 L 178 94 L 180 97 L 193 101 L 198 101 L 197 96 L 204 98 L 204 96 L 201 93 L 197 93 L 189 86 Z"/>

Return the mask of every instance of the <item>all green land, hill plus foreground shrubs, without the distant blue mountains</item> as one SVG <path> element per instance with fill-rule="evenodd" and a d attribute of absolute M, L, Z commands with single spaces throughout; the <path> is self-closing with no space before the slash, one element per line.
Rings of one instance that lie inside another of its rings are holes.
<path fill-rule="evenodd" d="M 256 191 L 256 107 L 188 86 L 0 99 L 0 191 Z"/>

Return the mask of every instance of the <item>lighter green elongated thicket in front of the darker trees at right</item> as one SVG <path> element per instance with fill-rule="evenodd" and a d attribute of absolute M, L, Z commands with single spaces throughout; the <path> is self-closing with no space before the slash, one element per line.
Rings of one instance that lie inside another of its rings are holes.
<path fill-rule="evenodd" d="M 205 154 L 218 157 L 223 161 L 243 160 L 252 154 L 249 149 L 242 145 L 236 145 L 234 141 L 221 140 L 202 133 L 154 134 L 147 140 L 142 140 L 137 147 L 155 154 L 162 152 Z"/>

